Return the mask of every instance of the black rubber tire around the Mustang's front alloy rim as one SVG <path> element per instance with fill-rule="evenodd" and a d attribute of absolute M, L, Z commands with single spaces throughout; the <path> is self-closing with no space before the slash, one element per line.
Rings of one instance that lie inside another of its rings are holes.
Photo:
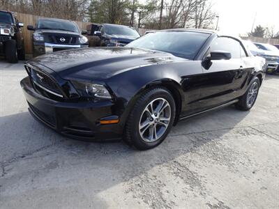
<path fill-rule="evenodd" d="M 142 111 L 144 111 L 144 108 L 147 106 L 147 104 L 149 104 L 149 102 L 151 102 L 152 100 L 155 100 L 156 98 L 164 98 L 165 100 L 167 100 L 167 102 L 169 102 L 169 106 L 171 108 L 171 119 L 169 121 L 169 126 L 167 127 L 167 130 L 165 131 L 163 136 L 160 137 L 160 139 L 158 139 L 157 141 L 153 141 L 153 142 L 146 142 L 140 136 L 140 131 L 138 128 L 139 123 L 140 123 L 140 118 L 142 116 Z M 138 148 L 140 150 L 146 150 L 146 149 L 158 146 L 167 137 L 167 134 L 169 134 L 169 131 L 172 129 L 172 125 L 174 123 L 174 118 L 175 118 L 175 114 L 176 114 L 175 113 L 176 106 L 175 106 L 175 102 L 174 102 L 174 98 L 172 97 L 172 94 L 169 93 L 169 91 L 167 91 L 165 88 L 155 88 L 155 89 L 149 91 L 148 93 L 144 94 L 138 101 L 139 101 L 139 103 L 136 103 L 135 107 L 133 109 L 133 111 L 134 111 L 133 112 L 133 118 L 134 118 L 133 121 L 134 122 L 133 122 L 133 124 L 130 124 L 131 142 L 133 143 L 133 145 L 136 148 Z"/>

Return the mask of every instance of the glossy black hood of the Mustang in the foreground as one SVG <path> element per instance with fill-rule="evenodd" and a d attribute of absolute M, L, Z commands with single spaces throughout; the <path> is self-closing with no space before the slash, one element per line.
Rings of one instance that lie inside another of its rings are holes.
<path fill-rule="evenodd" d="M 107 79 L 147 65 L 187 61 L 172 54 L 128 47 L 69 49 L 29 61 L 50 68 L 63 79 Z"/>

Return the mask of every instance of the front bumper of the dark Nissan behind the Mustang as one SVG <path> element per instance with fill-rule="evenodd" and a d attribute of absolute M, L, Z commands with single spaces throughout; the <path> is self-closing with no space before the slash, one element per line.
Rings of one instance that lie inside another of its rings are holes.
<path fill-rule="evenodd" d="M 39 56 L 42 54 L 52 53 L 61 51 L 64 49 L 77 49 L 82 47 L 88 47 L 89 45 L 60 45 L 60 44 L 54 44 L 49 42 L 34 42 L 33 43 L 33 55 Z"/>

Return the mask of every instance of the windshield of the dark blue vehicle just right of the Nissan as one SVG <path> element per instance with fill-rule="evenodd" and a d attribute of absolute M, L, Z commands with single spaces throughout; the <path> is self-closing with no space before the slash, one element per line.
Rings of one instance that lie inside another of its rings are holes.
<path fill-rule="evenodd" d="M 137 33 L 135 29 L 129 28 L 127 26 L 106 25 L 105 33 L 107 33 L 107 35 L 132 36 L 133 38 L 140 37 L 140 34 Z"/>

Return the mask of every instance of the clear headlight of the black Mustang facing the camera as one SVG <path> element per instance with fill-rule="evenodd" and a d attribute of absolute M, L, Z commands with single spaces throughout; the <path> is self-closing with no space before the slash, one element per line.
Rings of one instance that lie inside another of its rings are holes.
<path fill-rule="evenodd" d="M 73 82 L 75 88 L 80 95 L 87 98 L 100 98 L 100 99 L 111 99 L 110 92 L 107 91 L 105 86 L 100 84 L 84 83 L 84 82 Z"/>

